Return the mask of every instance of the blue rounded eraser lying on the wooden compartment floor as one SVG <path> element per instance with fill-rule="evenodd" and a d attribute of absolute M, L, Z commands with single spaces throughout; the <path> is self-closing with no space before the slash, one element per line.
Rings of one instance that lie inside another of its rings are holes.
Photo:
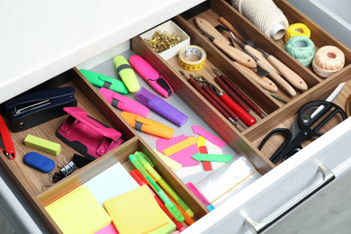
<path fill-rule="evenodd" d="M 24 163 L 40 172 L 48 173 L 55 168 L 55 162 L 37 152 L 30 152 L 23 157 Z"/>

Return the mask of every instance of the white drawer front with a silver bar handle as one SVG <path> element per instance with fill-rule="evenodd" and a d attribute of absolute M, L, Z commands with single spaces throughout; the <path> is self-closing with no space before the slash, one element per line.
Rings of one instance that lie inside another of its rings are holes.
<path fill-rule="evenodd" d="M 259 222 L 279 213 L 322 183 L 319 166 L 338 178 L 351 166 L 351 120 L 341 122 L 298 154 L 250 184 L 242 192 L 198 220 L 185 233 L 245 233 L 247 216 Z"/>

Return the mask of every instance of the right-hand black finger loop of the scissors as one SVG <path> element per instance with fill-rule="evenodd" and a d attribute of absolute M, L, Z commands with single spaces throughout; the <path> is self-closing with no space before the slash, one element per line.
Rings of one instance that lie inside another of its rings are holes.
<path fill-rule="evenodd" d="M 322 106 L 323 108 L 320 110 L 320 112 L 316 114 L 316 116 L 311 118 L 310 121 L 303 121 L 303 113 L 307 109 L 316 105 Z M 331 109 L 333 109 L 332 112 L 329 112 Z M 328 112 L 329 114 L 326 117 L 323 117 Z M 298 112 L 298 121 L 300 126 L 302 127 L 302 131 L 305 131 L 306 135 L 309 135 L 310 137 L 320 137 L 321 135 L 323 135 L 323 133 L 319 132 L 320 128 L 323 127 L 328 121 L 330 121 L 330 119 L 332 119 L 338 113 L 341 115 L 343 121 L 347 119 L 346 112 L 344 112 L 337 104 L 322 100 L 311 101 L 309 103 L 303 104 L 300 108 Z M 317 121 L 320 122 L 312 129 L 312 125 Z"/>

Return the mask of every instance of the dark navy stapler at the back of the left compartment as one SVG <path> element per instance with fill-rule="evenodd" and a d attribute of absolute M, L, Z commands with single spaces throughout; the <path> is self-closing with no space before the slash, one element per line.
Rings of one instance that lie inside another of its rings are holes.
<path fill-rule="evenodd" d="M 75 89 L 67 86 L 14 97 L 4 103 L 4 111 L 13 130 L 22 131 L 65 115 L 64 107 L 76 105 Z"/>

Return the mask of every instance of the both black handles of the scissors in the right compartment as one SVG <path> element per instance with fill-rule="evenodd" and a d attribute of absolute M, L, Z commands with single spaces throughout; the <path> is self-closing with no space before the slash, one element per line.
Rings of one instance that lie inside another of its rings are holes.
<path fill-rule="evenodd" d="M 320 108 L 322 107 L 322 109 Z M 318 110 L 318 112 L 316 112 Z M 326 115 L 328 113 L 328 115 Z M 347 114 L 335 103 L 328 101 L 311 101 L 302 105 L 298 112 L 297 120 L 293 122 L 290 129 L 278 128 L 270 131 L 262 140 L 258 149 L 261 150 L 266 141 L 273 135 L 284 136 L 284 142 L 270 158 L 272 163 L 277 163 L 280 159 L 286 160 L 302 149 L 302 142 L 312 137 L 320 137 L 322 128 L 335 115 L 340 114 L 343 121 L 347 119 Z"/>

